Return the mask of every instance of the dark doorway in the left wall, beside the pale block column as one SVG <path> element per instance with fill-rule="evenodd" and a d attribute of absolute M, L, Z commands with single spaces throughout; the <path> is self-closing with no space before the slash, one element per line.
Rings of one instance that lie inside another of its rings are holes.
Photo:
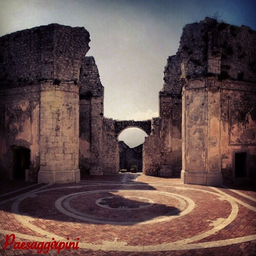
<path fill-rule="evenodd" d="M 30 168 L 30 150 L 18 148 L 14 150 L 14 180 L 25 180 L 25 170 Z"/>

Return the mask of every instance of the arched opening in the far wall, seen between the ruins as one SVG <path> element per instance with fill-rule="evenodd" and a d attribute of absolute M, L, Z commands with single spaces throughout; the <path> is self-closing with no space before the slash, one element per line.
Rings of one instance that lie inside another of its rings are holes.
<path fill-rule="evenodd" d="M 134 127 L 126 128 L 120 133 L 118 136 L 120 170 L 142 172 L 142 149 L 147 136 L 142 129 Z"/>

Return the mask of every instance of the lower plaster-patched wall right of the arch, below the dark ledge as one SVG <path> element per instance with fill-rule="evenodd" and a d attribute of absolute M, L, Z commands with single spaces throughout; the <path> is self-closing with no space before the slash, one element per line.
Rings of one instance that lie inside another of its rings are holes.
<path fill-rule="evenodd" d="M 143 172 L 152 176 L 179 175 L 182 166 L 181 98 L 160 95 L 160 117 L 143 147 Z M 153 123 L 153 122 L 152 122 Z"/>

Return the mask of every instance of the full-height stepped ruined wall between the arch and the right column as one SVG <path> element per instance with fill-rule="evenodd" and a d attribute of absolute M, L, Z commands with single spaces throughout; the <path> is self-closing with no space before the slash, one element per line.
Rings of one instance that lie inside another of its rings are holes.
<path fill-rule="evenodd" d="M 159 118 L 143 150 L 146 175 L 178 175 L 181 171 L 181 68 L 178 56 L 169 56 L 164 69 L 164 86 L 159 94 Z"/>

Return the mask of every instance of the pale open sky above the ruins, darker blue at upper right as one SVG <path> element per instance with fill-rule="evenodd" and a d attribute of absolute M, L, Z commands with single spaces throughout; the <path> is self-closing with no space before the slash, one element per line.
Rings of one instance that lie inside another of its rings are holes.
<path fill-rule="evenodd" d="M 0 0 L 0 36 L 50 23 L 84 26 L 105 87 L 104 116 L 145 120 L 158 116 L 164 66 L 182 27 L 218 12 L 256 30 L 255 10 L 256 0 Z"/>

